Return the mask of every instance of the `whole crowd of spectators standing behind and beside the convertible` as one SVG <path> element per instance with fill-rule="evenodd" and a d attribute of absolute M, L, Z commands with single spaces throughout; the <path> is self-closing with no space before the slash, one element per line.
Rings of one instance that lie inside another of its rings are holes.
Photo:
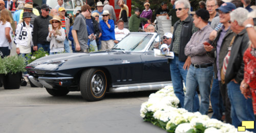
<path fill-rule="evenodd" d="M 211 103 L 212 118 L 236 127 L 242 121 L 255 121 L 256 31 L 248 14 L 256 17 L 256 13 L 250 0 L 201 1 L 195 14 L 187 0 L 171 0 L 169 8 L 162 2 L 153 10 L 146 1 L 144 10 L 135 8 L 131 17 L 123 0 L 116 3 L 121 8 L 119 16 L 108 1 L 99 1 L 94 11 L 89 5 L 81 6 L 74 19 L 68 17 L 63 0 L 55 1 L 56 7 L 42 4 L 38 10 L 32 0 L 0 0 L 0 51 L 4 56 L 10 55 L 13 40 L 16 53 L 24 57 L 39 48 L 49 54 L 70 53 L 69 40 L 73 53 L 92 48 L 104 51 L 140 27 L 156 32 L 154 16 L 171 17 L 173 33 L 164 33 L 161 39 L 175 55 L 168 62 L 179 106 L 207 115 Z"/>

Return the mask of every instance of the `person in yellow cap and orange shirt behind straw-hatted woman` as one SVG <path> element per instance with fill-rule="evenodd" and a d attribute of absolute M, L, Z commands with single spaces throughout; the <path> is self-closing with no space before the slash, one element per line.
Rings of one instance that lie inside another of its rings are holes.
<path fill-rule="evenodd" d="M 66 9 L 63 7 L 59 8 L 59 17 L 62 22 L 62 28 L 65 30 L 66 39 L 64 41 L 64 49 L 66 53 L 70 53 L 70 46 L 69 46 L 69 40 L 68 40 L 68 33 L 70 29 L 70 19 L 65 16 Z"/>

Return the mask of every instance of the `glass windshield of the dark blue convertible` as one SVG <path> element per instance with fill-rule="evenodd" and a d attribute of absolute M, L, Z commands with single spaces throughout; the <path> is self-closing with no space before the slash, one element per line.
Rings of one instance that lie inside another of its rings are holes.
<path fill-rule="evenodd" d="M 142 51 L 153 34 L 129 34 L 124 37 L 113 49 L 124 51 Z"/>

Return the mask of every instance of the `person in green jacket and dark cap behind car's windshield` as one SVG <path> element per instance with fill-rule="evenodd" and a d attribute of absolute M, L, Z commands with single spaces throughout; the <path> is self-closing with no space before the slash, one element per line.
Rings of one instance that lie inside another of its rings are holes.
<path fill-rule="evenodd" d="M 140 17 L 140 9 L 136 8 L 134 10 L 134 14 L 129 19 L 130 32 L 138 32 L 141 21 L 145 21 L 145 22 L 147 21 L 148 24 L 151 24 L 150 20 L 148 20 L 144 17 Z"/>

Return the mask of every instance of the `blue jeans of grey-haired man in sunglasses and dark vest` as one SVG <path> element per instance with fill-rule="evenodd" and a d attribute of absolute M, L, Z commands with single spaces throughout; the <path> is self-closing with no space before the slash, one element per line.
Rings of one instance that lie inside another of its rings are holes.
<path fill-rule="evenodd" d="M 170 76 L 172 77 L 174 93 L 176 97 L 180 100 L 180 107 L 184 107 L 184 91 L 183 91 L 183 82 L 186 84 L 187 70 L 183 69 L 185 62 L 179 61 L 179 57 L 174 57 L 170 61 Z M 193 111 L 198 112 L 199 110 L 199 98 L 196 92 L 194 97 L 194 107 Z"/>

